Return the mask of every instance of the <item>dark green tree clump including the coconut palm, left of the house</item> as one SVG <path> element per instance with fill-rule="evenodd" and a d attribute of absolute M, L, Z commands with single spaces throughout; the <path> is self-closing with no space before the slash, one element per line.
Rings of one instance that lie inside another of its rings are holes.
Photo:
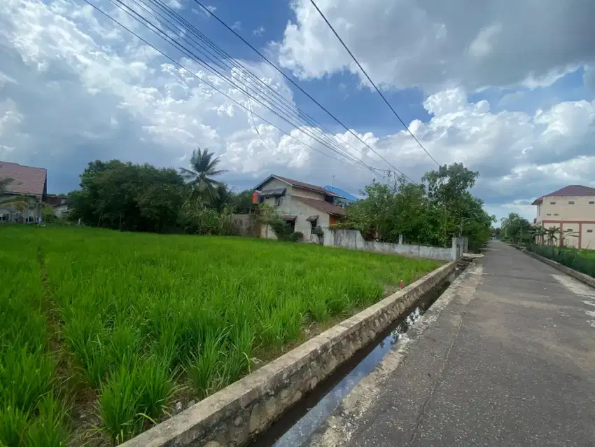
<path fill-rule="evenodd" d="M 206 149 L 193 151 L 190 169 L 92 161 L 69 194 L 69 219 L 120 231 L 231 234 L 230 216 L 248 212 L 252 191 L 218 181 L 219 163 Z"/>

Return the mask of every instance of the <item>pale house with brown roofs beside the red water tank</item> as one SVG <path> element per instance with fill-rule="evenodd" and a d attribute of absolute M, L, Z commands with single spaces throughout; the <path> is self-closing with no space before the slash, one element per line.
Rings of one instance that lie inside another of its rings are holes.
<path fill-rule="evenodd" d="M 304 234 L 304 240 L 312 240 L 314 228 L 328 228 L 344 216 L 345 209 L 335 205 L 341 196 L 320 186 L 271 175 L 254 187 L 260 193 L 262 202 L 275 207 L 293 228 Z M 274 232 L 262 226 L 262 238 L 274 239 Z"/>

